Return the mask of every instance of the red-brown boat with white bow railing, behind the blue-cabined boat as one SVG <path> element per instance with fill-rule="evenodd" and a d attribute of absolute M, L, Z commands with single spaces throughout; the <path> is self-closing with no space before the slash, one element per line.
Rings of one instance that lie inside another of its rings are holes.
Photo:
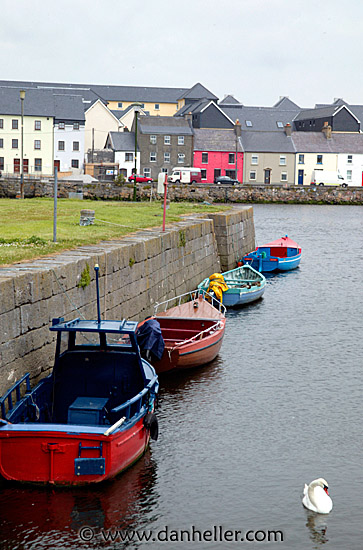
<path fill-rule="evenodd" d="M 170 307 L 175 302 L 177 305 Z M 160 325 L 165 349 L 161 358 L 153 353 L 146 355 L 156 373 L 200 367 L 213 361 L 222 346 L 225 311 L 223 304 L 202 289 L 158 304 L 152 320 Z M 139 324 L 138 341 L 139 331 L 147 322 Z"/>

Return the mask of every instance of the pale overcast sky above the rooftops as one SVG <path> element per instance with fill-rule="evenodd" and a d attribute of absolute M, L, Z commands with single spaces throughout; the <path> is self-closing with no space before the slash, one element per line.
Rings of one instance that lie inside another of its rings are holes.
<path fill-rule="evenodd" d="M 0 0 L 2 80 L 363 104 L 362 0 Z"/>

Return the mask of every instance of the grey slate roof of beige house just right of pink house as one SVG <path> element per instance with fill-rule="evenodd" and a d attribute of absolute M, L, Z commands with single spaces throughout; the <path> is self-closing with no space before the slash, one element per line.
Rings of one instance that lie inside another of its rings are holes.
<path fill-rule="evenodd" d="M 295 153 L 292 139 L 284 130 L 279 132 L 242 131 L 241 141 L 246 153 Z"/>

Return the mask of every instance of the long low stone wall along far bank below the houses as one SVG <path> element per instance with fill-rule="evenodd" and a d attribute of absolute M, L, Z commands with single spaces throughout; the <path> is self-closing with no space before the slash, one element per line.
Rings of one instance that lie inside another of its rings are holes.
<path fill-rule="evenodd" d="M 25 196 L 52 197 L 53 181 L 26 180 Z M 137 200 L 162 200 L 156 192 L 156 184 L 137 184 Z M 15 198 L 19 195 L 19 180 L 0 179 L 0 198 Z M 85 198 L 100 200 L 133 200 L 133 185 L 107 183 L 80 183 L 58 180 L 58 196 L 61 198 Z M 298 204 L 363 204 L 363 187 L 314 187 L 287 185 L 168 185 L 168 199 L 171 201 L 193 201 L 210 203 L 298 203 Z"/>

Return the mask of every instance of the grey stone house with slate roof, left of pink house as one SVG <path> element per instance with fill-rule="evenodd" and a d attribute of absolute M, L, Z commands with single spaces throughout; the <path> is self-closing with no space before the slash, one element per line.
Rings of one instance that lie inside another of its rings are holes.
<path fill-rule="evenodd" d="M 140 172 L 145 176 L 157 179 L 160 172 L 170 174 L 175 166 L 192 166 L 193 129 L 185 118 L 140 117 L 137 143 L 141 151 Z"/>

